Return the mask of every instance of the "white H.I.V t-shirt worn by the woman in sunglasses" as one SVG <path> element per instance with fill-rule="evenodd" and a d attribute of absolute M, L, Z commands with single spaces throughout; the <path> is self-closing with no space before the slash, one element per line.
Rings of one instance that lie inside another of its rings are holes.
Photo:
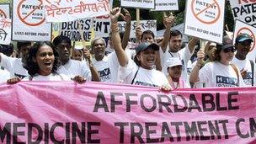
<path fill-rule="evenodd" d="M 237 68 L 238 69 L 238 68 Z M 243 77 L 238 72 L 239 87 L 244 87 Z M 237 87 L 237 73 L 230 65 L 223 65 L 220 62 L 208 62 L 199 72 L 200 83 L 205 87 Z"/>

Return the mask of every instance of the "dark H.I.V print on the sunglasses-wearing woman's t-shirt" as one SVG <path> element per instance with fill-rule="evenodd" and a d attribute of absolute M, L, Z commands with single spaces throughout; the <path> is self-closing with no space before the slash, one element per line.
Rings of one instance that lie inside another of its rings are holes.
<path fill-rule="evenodd" d="M 237 78 L 216 76 L 216 87 L 236 87 Z"/>

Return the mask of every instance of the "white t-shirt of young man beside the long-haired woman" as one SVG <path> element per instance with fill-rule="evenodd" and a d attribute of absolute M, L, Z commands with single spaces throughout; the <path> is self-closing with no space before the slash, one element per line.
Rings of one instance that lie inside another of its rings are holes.
<path fill-rule="evenodd" d="M 68 77 L 83 76 L 87 81 L 92 80 L 92 74 L 86 61 L 76 61 L 70 59 L 65 65 L 59 67 L 58 73 L 65 74 Z"/>

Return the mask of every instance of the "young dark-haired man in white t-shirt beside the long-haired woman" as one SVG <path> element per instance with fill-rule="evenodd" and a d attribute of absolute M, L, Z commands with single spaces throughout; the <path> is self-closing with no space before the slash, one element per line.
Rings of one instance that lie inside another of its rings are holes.
<path fill-rule="evenodd" d="M 59 35 L 53 40 L 53 45 L 58 51 L 61 66 L 57 70 L 58 73 L 66 74 L 68 77 L 82 76 L 87 81 L 99 82 L 99 75 L 93 64 L 89 62 L 89 68 L 83 61 L 75 61 L 70 58 L 71 40 L 67 36 Z"/>

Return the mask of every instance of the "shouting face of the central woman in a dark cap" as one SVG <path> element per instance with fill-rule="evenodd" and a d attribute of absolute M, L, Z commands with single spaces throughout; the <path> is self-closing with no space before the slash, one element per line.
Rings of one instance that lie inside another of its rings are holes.
<path fill-rule="evenodd" d="M 141 62 L 141 67 L 145 69 L 152 69 L 157 59 L 157 51 L 149 48 L 145 51 L 141 51 L 137 59 Z"/>

